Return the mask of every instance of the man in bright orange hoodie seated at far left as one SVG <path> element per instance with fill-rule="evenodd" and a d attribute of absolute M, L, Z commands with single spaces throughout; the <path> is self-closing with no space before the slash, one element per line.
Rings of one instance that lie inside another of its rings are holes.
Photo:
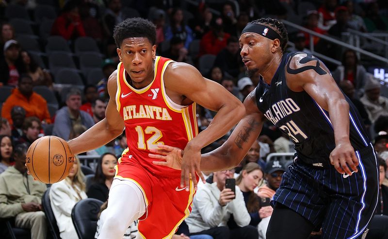
<path fill-rule="evenodd" d="M 17 83 L 17 88 L 12 90 L 12 94 L 4 102 L 1 117 L 7 119 L 11 124 L 11 110 L 19 105 L 26 111 L 26 117 L 36 116 L 39 120 L 51 123 L 47 102 L 42 96 L 32 91 L 32 78 L 29 75 L 21 75 Z"/>

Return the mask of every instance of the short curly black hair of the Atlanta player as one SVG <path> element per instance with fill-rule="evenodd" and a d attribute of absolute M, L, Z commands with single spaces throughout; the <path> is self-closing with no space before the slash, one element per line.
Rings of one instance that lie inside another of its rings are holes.
<path fill-rule="evenodd" d="M 114 27 L 113 38 L 117 48 L 121 47 L 124 39 L 130 37 L 145 37 L 151 45 L 156 44 L 155 25 L 141 17 L 127 18 Z"/>

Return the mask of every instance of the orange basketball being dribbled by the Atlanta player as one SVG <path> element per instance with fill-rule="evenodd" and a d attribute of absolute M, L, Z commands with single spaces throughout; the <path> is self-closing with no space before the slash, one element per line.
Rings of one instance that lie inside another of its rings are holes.
<path fill-rule="evenodd" d="M 26 154 L 26 166 L 32 177 L 45 184 L 57 183 L 69 174 L 74 154 L 65 140 L 56 136 L 36 139 Z"/>

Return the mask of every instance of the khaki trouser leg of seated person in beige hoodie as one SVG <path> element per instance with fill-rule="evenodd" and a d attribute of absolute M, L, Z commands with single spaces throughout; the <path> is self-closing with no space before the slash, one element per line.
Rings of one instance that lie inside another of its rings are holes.
<path fill-rule="evenodd" d="M 46 239 L 47 237 L 46 217 L 42 211 L 18 214 L 15 218 L 15 225 L 31 229 L 31 239 Z"/>

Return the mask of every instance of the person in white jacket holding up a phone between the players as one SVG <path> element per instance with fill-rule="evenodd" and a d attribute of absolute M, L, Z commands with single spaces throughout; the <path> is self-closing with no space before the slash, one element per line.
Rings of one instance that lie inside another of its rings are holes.
<path fill-rule="evenodd" d="M 233 174 L 234 170 L 214 172 L 213 178 L 208 178 L 208 183 L 198 188 L 192 212 L 185 220 L 191 235 L 205 234 L 214 239 L 258 239 L 257 229 L 249 225 L 251 218 L 240 188 L 236 186 L 236 195 L 230 188 L 225 188 L 226 178 L 232 178 Z M 232 224 L 235 226 L 228 226 Z"/>

